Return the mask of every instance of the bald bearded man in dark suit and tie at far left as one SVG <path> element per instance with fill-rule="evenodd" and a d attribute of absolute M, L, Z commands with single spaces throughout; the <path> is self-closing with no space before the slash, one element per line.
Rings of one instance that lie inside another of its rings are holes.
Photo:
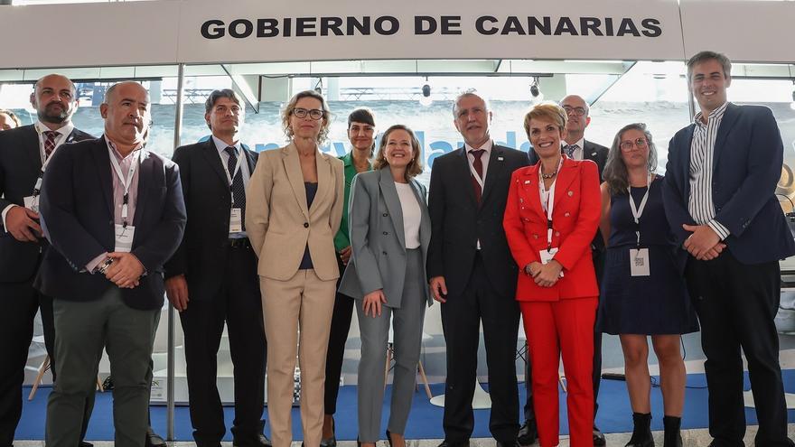
<path fill-rule="evenodd" d="M 33 277 L 49 247 L 38 223 L 38 182 L 61 144 L 93 138 L 71 123 L 77 98 L 70 79 L 51 74 L 36 81 L 31 105 L 38 116 L 33 125 L 0 133 L 0 196 L 5 196 L 0 198 L 0 445 L 14 441 L 22 414 L 24 367 L 33 318 L 40 308 L 44 345 L 55 379 L 52 298 L 33 288 Z M 93 403 L 91 394 L 89 412 Z"/>

